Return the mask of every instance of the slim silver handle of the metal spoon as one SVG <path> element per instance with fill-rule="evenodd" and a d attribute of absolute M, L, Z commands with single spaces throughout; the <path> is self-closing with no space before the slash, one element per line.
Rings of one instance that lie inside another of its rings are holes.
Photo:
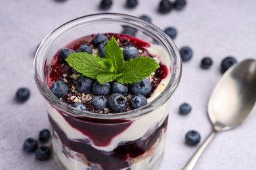
<path fill-rule="evenodd" d="M 205 141 L 201 144 L 201 146 L 198 148 L 198 150 L 196 150 L 196 153 L 194 153 L 194 155 L 192 156 L 192 158 L 190 158 L 190 160 L 188 161 L 188 163 L 186 163 L 186 165 L 182 168 L 182 170 L 192 170 L 194 168 L 194 166 L 196 165 L 196 162 L 198 161 L 198 159 L 200 158 L 200 156 L 202 155 L 203 151 L 205 150 L 205 148 L 208 146 L 208 144 L 211 142 L 211 140 L 213 139 L 213 137 L 215 137 L 217 131 L 215 131 L 215 129 L 213 129 L 213 131 L 211 131 L 211 133 L 209 134 L 209 136 L 205 139 Z"/>

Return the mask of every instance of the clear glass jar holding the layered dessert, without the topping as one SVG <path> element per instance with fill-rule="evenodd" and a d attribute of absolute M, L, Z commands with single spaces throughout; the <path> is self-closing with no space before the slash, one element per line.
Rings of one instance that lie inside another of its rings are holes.
<path fill-rule="evenodd" d="M 56 52 L 76 39 L 96 33 L 133 31 L 133 41 L 166 67 L 165 81 L 147 105 L 113 114 L 74 109 L 58 99 L 47 84 Z M 127 31 L 127 30 L 126 30 Z M 54 156 L 64 169 L 154 169 L 165 145 L 171 96 L 181 79 L 177 47 L 160 28 L 124 14 L 94 14 L 61 25 L 41 42 L 34 62 L 35 83 L 46 101 Z"/>

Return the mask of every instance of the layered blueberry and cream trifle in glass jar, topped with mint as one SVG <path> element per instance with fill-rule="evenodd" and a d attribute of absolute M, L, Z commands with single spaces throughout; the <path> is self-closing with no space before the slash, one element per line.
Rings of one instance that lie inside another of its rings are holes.
<path fill-rule="evenodd" d="M 101 15 L 119 18 L 120 27 L 123 17 L 131 17 Z M 50 39 L 63 27 L 70 25 L 70 33 L 73 24 L 98 16 L 62 25 L 36 54 L 35 80 L 47 100 L 54 154 L 64 169 L 155 169 L 163 156 L 171 93 L 179 84 L 179 54 L 173 58 L 175 46 L 169 51 L 156 39 L 117 31 L 68 40 L 64 31 Z M 56 47 L 60 37 L 67 43 Z"/>

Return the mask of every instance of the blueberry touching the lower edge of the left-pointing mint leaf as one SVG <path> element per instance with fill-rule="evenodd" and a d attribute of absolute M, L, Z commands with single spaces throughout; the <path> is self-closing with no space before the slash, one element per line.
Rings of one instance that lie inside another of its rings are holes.
<path fill-rule="evenodd" d="M 77 92 L 89 94 L 93 87 L 93 79 L 86 76 L 79 76 L 75 82 Z"/>

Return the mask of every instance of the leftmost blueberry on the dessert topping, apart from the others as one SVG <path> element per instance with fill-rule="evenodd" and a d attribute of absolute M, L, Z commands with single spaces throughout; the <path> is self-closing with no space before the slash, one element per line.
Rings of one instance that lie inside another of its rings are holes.
<path fill-rule="evenodd" d="M 68 84 L 64 81 L 56 81 L 54 82 L 53 86 L 51 87 L 52 92 L 56 97 L 64 97 L 65 95 L 68 94 Z"/>

